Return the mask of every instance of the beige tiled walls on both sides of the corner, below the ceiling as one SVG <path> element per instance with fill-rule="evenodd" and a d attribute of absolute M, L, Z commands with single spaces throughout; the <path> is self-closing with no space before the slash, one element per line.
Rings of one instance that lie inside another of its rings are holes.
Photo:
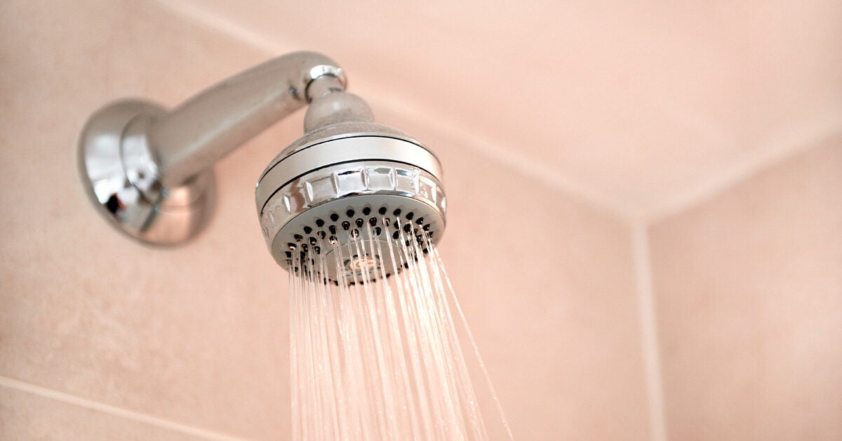
<path fill-rule="evenodd" d="M 109 229 L 75 164 L 99 105 L 175 105 L 272 55 L 145 0 L 0 4 L 0 438 L 288 438 L 253 184 L 301 114 L 217 165 L 215 217 L 172 250 Z M 625 213 L 370 101 L 445 165 L 442 255 L 517 438 L 842 438 L 842 137 L 647 223 L 636 262 Z"/>

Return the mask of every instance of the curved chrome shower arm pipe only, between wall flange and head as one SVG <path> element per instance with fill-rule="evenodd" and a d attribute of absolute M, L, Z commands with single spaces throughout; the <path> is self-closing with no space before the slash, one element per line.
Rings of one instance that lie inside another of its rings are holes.
<path fill-rule="evenodd" d="M 148 143 L 165 187 L 184 184 L 259 132 L 306 105 L 324 76 L 344 90 L 341 67 L 316 52 L 293 52 L 239 73 L 152 122 Z"/>

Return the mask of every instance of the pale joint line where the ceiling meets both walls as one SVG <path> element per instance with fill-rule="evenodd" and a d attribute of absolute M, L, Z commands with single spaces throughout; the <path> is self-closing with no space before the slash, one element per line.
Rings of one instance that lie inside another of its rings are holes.
<path fill-rule="evenodd" d="M 291 48 L 297 46 L 290 41 L 280 41 L 255 33 L 241 24 L 189 2 L 179 0 L 150 1 L 166 9 L 168 13 L 173 13 L 206 29 L 220 32 L 234 40 L 240 40 L 248 46 L 264 51 L 267 55 L 277 55 L 279 52 L 290 51 Z M 435 115 L 437 112 L 430 111 L 409 99 L 401 99 L 399 94 L 385 94 L 382 92 L 382 85 L 367 83 L 365 78 L 362 78 L 362 80 L 354 78 L 354 83 L 361 84 L 360 89 L 368 90 L 366 99 L 372 103 L 377 103 L 377 107 L 395 115 L 408 115 L 413 121 L 424 121 L 429 126 L 439 127 L 443 132 L 460 139 L 466 147 L 481 153 L 486 158 L 522 173 L 536 176 L 551 188 L 579 196 L 584 202 L 590 202 L 595 207 L 601 207 L 631 223 L 637 221 L 652 223 L 704 202 L 706 199 L 737 184 L 740 180 L 744 180 L 775 164 L 775 162 L 785 159 L 788 155 L 810 147 L 811 141 L 815 141 L 818 137 L 825 136 L 829 132 L 838 132 L 839 127 L 842 127 L 842 114 L 832 114 L 821 120 L 812 121 L 807 126 L 796 127 L 789 132 L 776 133 L 770 139 L 777 139 L 778 141 L 770 143 L 764 149 L 756 149 L 755 151 L 761 152 L 760 154 L 745 159 L 728 161 L 722 165 L 718 173 L 707 174 L 704 179 L 698 180 L 695 185 L 691 185 L 687 190 L 674 192 L 662 201 L 640 209 L 639 207 L 629 206 L 616 196 L 600 191 L 596 186 L 589 185 L 587 182 L 566 178 L 559 174 L 556 169 L 552 169 L 538 159 L 524 156 L 515 149 L 504 148 L 499 143 L 477 137 L 473 132 L 449 121 L 435 120 L 428 115 Z M 378 90 L 381 92 L 378 93 Z M 674 110 L 673 113 L 675 113 Z M 695 126 L 701 126 L 700 121 L 693 120 L 691 122 Z"/>

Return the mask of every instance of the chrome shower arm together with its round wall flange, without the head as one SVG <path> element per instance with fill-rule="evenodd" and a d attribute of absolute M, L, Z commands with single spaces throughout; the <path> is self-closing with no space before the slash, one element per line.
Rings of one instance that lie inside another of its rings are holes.
<path fill-rule="evenodd" d="M 345 93 L 345 85 L 336 62 L 301 51 L 217 83 L 170 111 L 143 100 L 116 101 L 83 129 L 83 183 L 121 232 L 150 245 L 184 243 L 213 211 L 212 165 L 259 132 L 314 99 L 306 132 L 336 121 L 373 121 L 365 101 Z"/>

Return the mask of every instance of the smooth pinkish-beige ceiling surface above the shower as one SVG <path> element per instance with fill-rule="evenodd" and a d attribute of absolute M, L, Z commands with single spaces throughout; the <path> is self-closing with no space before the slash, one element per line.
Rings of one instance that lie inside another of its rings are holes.
<path fill-rule="evenodd" d="M 838 0 L 161 1 L 315 43 L 376 89 L 639 212 L 842 119 Z"/>

